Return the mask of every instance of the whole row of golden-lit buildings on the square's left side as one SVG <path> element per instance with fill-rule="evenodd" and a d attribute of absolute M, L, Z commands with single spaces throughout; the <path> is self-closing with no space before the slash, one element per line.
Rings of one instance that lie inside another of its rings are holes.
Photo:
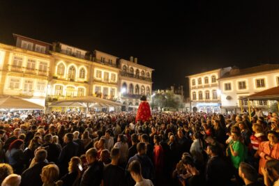
<path fill-rule="evenodd" d="M 0 95 L 17 95 L 42 106 L 93 95 L 119 101 L 124 110 L 137 108 L 140 95 L 150 98 L 153 69 L 137 59 L 126 61 L 61 42 L 14 37 L 15 46 L 0 43 Z"/>

